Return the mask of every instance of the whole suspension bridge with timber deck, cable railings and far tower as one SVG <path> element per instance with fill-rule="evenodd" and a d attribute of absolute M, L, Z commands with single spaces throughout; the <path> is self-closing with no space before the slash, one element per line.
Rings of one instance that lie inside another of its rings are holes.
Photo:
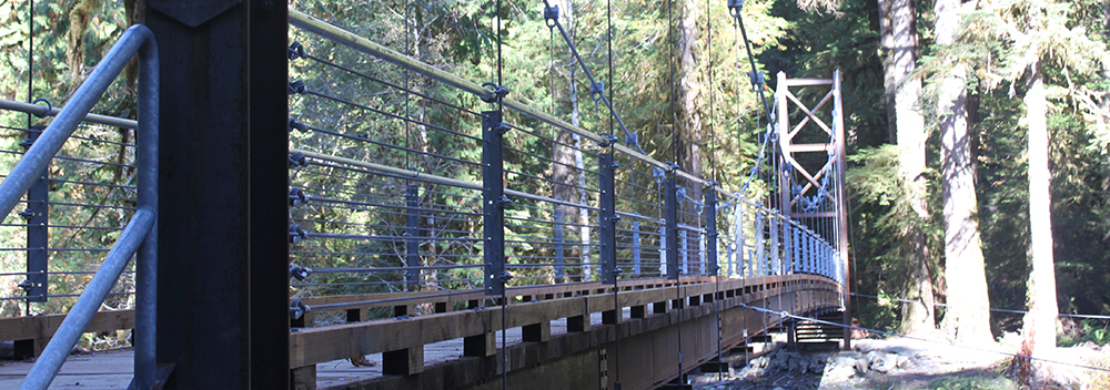
<path fill-rule="evenodd" d="M 0 102 L 53 117 L 3 127 L 27 270 L 0 275 L 24 308 L 0 340 L 37 360 L 0 387 L 682 387 L 790 316 L 848 317 L 839 74 L 779 74 L 751 176 L 706 178 L 645 153 L 581 58 L 607 131 L 500 63 L 466 80 L 281 1 L 198 3 L 150 2 L 63 106 Z M 132 57 L 138 120 L 89 114 Z M 67 360 L 83 333 L 129 348 Z"/>

